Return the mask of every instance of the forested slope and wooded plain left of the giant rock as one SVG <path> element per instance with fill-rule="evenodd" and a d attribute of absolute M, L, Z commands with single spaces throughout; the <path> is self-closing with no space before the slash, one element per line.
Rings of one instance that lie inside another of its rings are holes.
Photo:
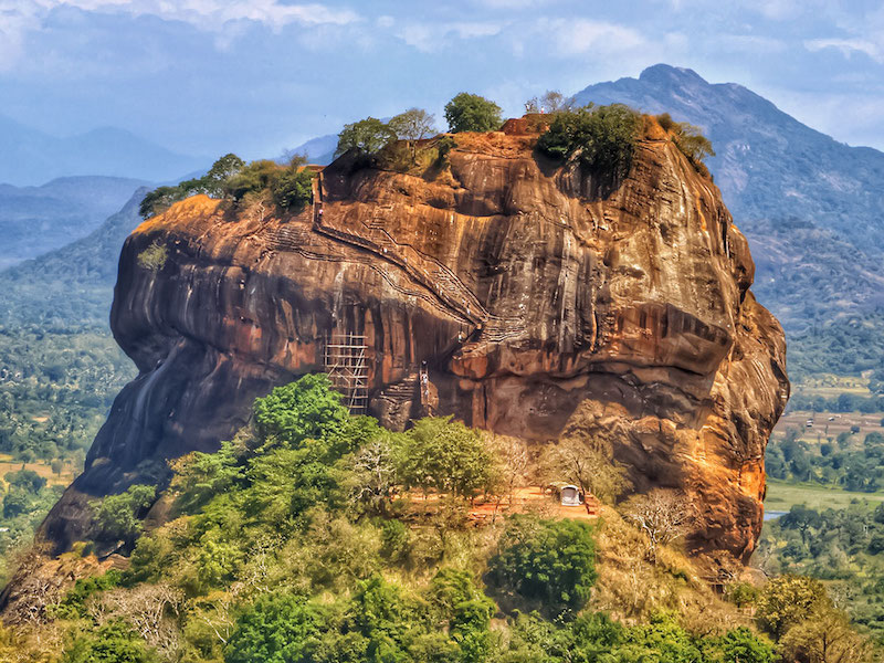
<path fill-rule="evenodd" d="M 114 397 L 135 376 L 107 315 L 119 250 L 139 220 L 139 196 L 88 236 L 3 273 L 0 454 L 15 469 L 41 463 L 30 466 L 52 482 L 25 499 L 0 485 L 0 499 L 18 505 L 0 512 L 0 581 L 57 501 L 59 484 L 82 470 Z"/>

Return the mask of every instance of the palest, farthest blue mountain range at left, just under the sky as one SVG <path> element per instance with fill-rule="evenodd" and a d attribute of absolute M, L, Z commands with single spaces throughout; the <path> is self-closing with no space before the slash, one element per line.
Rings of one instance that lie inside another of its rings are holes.
<path fill-rule="evenodd" d="M 173 152 L 113 127 L 60 138 L 0 115 L 0 182 L 41 185 L 102 175 L 162 181 L 203 168 L 207 159 Z"/>

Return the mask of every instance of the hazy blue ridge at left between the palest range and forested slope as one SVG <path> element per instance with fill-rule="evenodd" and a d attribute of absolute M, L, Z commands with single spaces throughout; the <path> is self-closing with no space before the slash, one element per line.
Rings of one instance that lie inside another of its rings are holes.
<path fill-rule="evenodd" d="M 146 183 L 65 177 L 42 187 L 0 185 L 0 270 L 88 234 Z"/>

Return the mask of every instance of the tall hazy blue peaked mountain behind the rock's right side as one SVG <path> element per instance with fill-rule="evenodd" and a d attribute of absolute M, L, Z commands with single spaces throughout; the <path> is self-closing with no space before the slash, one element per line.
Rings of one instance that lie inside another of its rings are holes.
<path fill-rule="evenodd" d="M 717 152 L 709 169 L 749 238 L 754 290 L 787 328 L 884 304 L 884 152 L 838 143 L 746 87 L 665 64 L 575 98 L 703 127 Z"/>

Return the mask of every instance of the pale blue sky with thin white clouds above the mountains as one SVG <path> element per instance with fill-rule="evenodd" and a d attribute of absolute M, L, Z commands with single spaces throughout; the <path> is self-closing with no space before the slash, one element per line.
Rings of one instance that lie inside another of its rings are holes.
<path fill-rule="evenodd" d="M 461 91 L 506 114 L 657 62 L 884 148 L 880 0 L 0 0 L 0 115 L 278 154 Z"/>

